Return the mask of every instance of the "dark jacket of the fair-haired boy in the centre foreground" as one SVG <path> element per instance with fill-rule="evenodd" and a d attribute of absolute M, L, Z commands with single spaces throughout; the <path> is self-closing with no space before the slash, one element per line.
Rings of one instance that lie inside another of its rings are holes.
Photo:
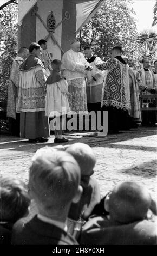
<path fill-rule="evenodd" d="M 64 230 L 43 222 L 37 215 L 23 224 L 18 221 L 12 230 L 12 245 L 78 245 Z"/>

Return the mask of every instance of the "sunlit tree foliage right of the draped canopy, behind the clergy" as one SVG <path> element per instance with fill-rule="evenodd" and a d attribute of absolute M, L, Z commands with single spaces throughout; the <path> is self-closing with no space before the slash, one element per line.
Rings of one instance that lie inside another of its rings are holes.
<path fill-rule="evenodd" d="M 157 1 L 157 0 L 156 0 Z M 155 58 L 156 33 L 138 32 L 130 0 L 106 0 L 95 16 L 77 34 L 81 50 L 89 45 L 95 54 L 106 60 L 111 49 L 120 45 L 123 54 L 135 60 L 136 68 L 143 56 Z"/>

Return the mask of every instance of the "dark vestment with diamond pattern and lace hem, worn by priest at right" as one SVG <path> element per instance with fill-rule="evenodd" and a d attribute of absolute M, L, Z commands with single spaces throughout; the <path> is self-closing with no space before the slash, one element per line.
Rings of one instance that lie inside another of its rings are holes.
<path fill-rule="evenodd" d="M 129 76 L 127 65 L 122 64 L 116 58 L 111 58 L 107 62 L 96 60 L 95 65 L 100 70 L 108 70 L 106 81 L 102 88 L 101 106 L 130 109 Z"/>

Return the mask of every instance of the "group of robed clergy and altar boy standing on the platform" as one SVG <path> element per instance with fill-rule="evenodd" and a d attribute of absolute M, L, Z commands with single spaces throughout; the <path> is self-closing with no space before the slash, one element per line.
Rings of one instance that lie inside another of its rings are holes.
<path fill-rule="evenodd" d="M 154 71 L 149 59 L 134 70 L 134 60 L 122 56 L 122 48 L 112 48 L 106 62 L 93 54 L 90 46 L 79 52 L 74 40 L 62 60 L 53 59 L 47 41 L 21 47 L 14 59 L 8 86 L 7 115 L 12 135 L 29 142 L 47 142 L 49 121 L 55 118 L 55 142 L 67 142 L 62 136 L 66 115 L 108 111 L 108 132 L 118 133 L 142 123 L 155 125 L 156 112 L 145 111 L 141 117 L 139 96 L 156 94 L 157 60 Z M 85 57 L 84 57 L 85 55 Z M 147 102 L 143 99 L 143 102 Z M 155 101 L 154 101 L 155 102 Z M 149 102 L 149 106 L 155 107 Z"/>

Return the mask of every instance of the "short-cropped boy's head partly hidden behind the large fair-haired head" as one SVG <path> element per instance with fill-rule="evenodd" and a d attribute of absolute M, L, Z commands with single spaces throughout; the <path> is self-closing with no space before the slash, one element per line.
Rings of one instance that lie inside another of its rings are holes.
<path fill-rule="evenodd" d="M 74 143 L 66 151 L 77 161 L 81 169 L 81 186 L 87 187 L 90 176 L 94 173 L 96 157 L 93 150 L 84 143 Z"/>

